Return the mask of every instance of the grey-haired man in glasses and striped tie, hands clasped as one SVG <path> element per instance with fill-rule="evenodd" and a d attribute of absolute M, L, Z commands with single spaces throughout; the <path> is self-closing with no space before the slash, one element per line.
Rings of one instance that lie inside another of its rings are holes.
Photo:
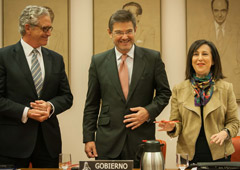
<path fill-rule="evenodd" d="M 17 44 L 0 49 L 0 164 L 57 168 L 57 115 L 73 96 L 62 56 L 42 47 L 52 31 L 47 9 L 27 6 L 19 31 Z"/>

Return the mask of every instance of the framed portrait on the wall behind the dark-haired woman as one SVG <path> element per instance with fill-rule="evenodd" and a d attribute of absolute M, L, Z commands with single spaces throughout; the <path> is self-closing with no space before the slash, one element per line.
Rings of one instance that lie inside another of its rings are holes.
<path fill-rule="evenodd" d="M 224 80 L 233 84 L 240 101 L 240 1 L 186 0 L 187 48 L 198 39 L 215 44 Z"/>

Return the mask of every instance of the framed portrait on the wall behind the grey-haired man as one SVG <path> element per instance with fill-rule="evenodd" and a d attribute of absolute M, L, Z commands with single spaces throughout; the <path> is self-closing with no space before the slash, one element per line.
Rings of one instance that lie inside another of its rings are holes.
<path fill-rule="evenodd" d="M 45 47 L 63 56 L 65 70 L 69 75 L 69 0 L 2 0 L 2 3 L 4 47 L 20 40 L 18 19 L 26 6 L 40 5 L 48 9 L 53 30 Z"/>

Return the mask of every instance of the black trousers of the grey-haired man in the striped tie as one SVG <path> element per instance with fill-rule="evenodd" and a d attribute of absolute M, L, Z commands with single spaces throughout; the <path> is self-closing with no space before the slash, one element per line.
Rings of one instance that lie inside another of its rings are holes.
<path fill-rule="evenodd" d="M 28 168 L 30 162 L 33 168 L 58 168 L 58 157 L 52 158 L 43 139 L 42 128 L 39 125 L 37 142 L 33 153 L 29 158 L 14 158 L 2 156 L 0 152 L 0 164 L 14 165 L 16 168 Z"/>

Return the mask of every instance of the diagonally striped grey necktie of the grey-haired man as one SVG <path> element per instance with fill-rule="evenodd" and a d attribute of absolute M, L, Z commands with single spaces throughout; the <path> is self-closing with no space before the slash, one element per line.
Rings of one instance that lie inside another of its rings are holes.
<path fill-rule="evenodd" d="M 39 64 L 39 61 L 37 59 L 38 51 L 36 49 L 33 49 L 32 51 L 32 66 L 31 66 L 31 72 L 33 77 L 33 82 L 38 94 L 38 98 L 40 97 L 43 81 L 42 81 L 42 71 Z"/>

